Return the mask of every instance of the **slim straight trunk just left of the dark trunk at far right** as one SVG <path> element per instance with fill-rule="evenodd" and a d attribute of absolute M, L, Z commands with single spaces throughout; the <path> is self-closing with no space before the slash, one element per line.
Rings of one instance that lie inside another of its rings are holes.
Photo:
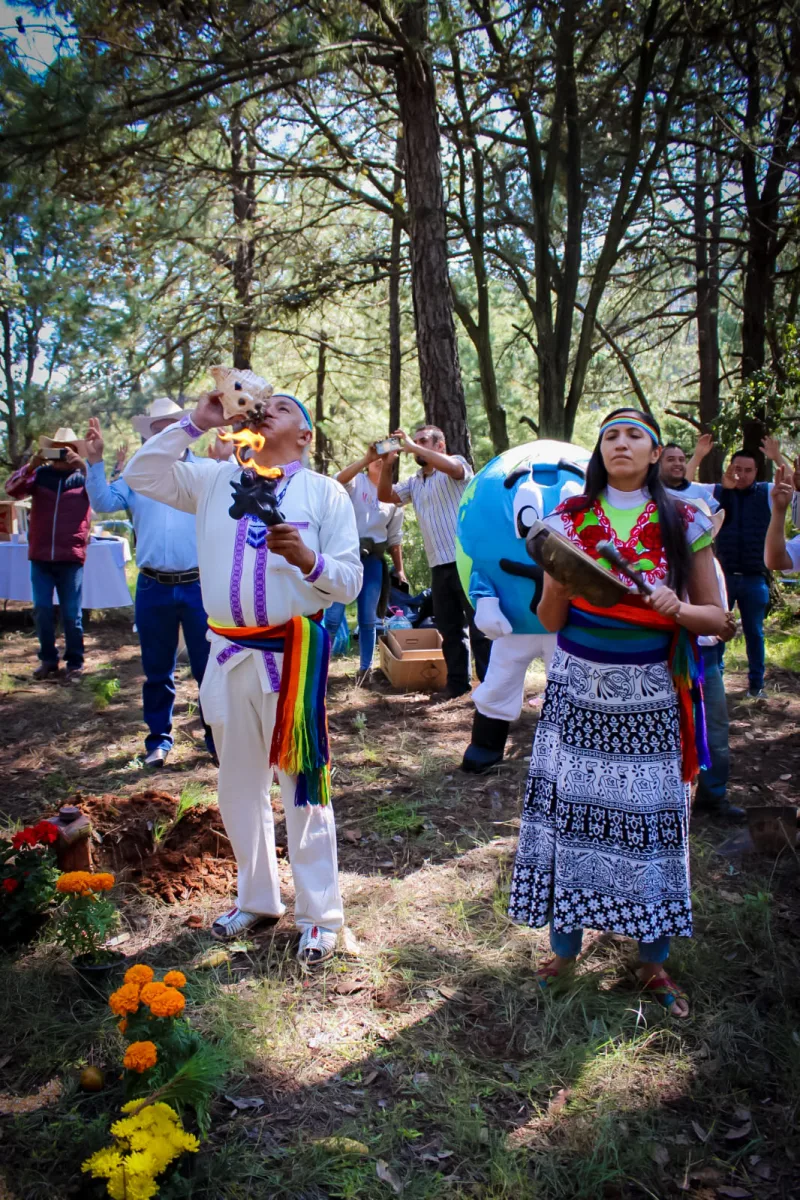
<path fill-rule="evenodd" d="M 706 161 L 702 146 L 702 122 L 697 121 L 694 149 L 694 188 L 692 196 L 694 221 L 694 292 L 697 298 L 697 359 L 699 367 L 699 420 L 710 428 L 720 415 L 720 338 L 717 314 L 720 308 L 720 233 L 721 185 L 715 176 L 709 214 Z M 718 162 L 717 162 L 718 168 Z M 700 463 L 700 479 L 710 484 L 722 478 L 721 451 L 715 446 Z"/>

